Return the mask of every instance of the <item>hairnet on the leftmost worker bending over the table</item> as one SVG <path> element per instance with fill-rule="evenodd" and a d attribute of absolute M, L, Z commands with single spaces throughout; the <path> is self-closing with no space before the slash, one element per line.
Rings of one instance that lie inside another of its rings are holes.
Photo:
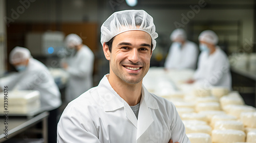
<path fill-rule="evenodd" d="M 16 64 L 16 63 L 23 62 L 29 58 L 31 58 L 31 53 L 29 49 L 16 46 L 10 52 L 9 60 L 11 64 Z"/>

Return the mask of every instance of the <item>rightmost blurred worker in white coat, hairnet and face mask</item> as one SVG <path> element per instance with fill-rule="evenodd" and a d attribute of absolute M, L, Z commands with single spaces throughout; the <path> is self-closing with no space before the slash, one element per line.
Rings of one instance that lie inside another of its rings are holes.
<path fill-rule="evenodd" d="M 213 31 L 206 30 L 199 35 L 198 69 L 188 83 L 197 82 L 203 87 L 225 87 L 231 90 L 229 61 L 224 51 L 217 45 L 219 38 Z"/>

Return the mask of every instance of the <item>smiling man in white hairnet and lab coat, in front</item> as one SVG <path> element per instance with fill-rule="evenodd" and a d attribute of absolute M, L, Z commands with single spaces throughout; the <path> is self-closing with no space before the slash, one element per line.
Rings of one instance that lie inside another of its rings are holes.
<path fill-rule="evenodd" d="M 190 142 L 174 104 L 142 84 L 157 37 L 153 18 L 143 10 L 115 12 L 102 24 L 110 73 L 69 103 L 58 142 Z"/>

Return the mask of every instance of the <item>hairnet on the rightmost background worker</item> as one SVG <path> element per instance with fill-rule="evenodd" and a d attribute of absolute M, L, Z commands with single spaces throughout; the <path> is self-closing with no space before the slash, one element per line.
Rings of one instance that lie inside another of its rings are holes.
<path fill-rule="evenodd" d="M 211 30 L 206 30 L 203 31 L 199 37 L 198 37 L 199 41 L 204 41 L 210 44 L 215 44 L 217 45 L 219 42 L 219 38 L 217 36 L 217 34 Z"/>

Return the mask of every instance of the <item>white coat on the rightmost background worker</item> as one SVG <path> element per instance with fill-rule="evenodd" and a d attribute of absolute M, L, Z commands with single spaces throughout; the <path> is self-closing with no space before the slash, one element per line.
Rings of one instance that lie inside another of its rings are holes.
<path fill-rule="evenodd" d="M 219 46 L 216 46 L 216 51 L 210 55 L 201 52 L 194 79 L 196 84 L 203 88 L 218 86 L 231 90 L 229 61 L 227 55 Z"/>

